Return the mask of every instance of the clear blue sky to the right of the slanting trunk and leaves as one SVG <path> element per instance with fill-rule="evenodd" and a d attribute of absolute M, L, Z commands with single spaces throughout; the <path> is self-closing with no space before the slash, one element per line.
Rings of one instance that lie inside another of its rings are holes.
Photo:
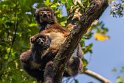
<path fill-rule="evenodd" d="M 86 41 L 86 44 L 93 43 L 93 54 L 85 55 L 89 61 L 88 69 L 116 83 L 116 78 L 120 73 L 112 72 L 113 68 L 118 70 L 124 66 L 124 18 L 114 18 L 110 16 L 110 8 L 103 13 L 100 21 L 105 23 L 109 29 L 110 40 L 96 41 L 94 38 Z M 100 83 L 86 75 L 78 75 L 79 83 Z"/>

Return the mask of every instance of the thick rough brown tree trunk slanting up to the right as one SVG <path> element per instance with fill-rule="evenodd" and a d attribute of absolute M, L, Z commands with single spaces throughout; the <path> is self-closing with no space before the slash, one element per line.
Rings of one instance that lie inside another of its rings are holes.
<path fill-rule="evenodd" d="M 61 46 L 53 61 L 53 68 L 51 68 L 53 70 L 50 70 L 53 72 L 52 83 L 61 83 L 65 65 L 70 59 L 74 49 L 78 45 L 82 36 L 88 30 L 88 27 L 91 25 L 91 23 L 102 15 L 107 6 L 107 0 L 92 0 L 91 6 L 82 15 L 79 24 L 74 30 L 71 31 L 70 35 L 66 39 L 65 43 Z"/>

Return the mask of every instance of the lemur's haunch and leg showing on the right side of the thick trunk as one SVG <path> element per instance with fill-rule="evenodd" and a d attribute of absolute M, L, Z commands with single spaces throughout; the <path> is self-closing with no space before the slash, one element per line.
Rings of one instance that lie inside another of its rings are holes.
<path fill-rule="evenodd" d="M 78 45 L 77 48 L 74 50 L 72 57 L 67 63 L 67 67 L 64 72 L 65 77 L 75 76 L 82 70 L 83 68 L 82 57 L 83 52 L 81 46 Z"/>

